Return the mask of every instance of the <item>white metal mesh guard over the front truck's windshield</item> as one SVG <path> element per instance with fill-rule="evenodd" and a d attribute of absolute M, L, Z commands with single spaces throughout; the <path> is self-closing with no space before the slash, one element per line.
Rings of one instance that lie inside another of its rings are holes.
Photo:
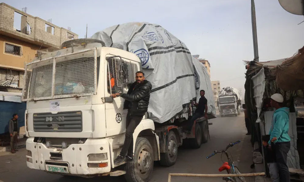
<path fill-rule="evenodd" d="M 93 95 L 96 71 L 95 49 L 31 62 L 26 65 L 22 100 Z"/>

